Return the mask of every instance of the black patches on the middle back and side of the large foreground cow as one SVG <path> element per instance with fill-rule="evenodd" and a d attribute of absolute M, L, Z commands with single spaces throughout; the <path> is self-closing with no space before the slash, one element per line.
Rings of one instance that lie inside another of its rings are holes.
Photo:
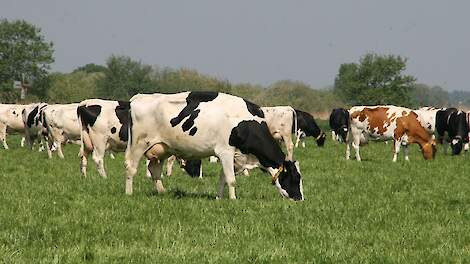
<path fill-rule="evenodd" d="M 170 120 L 171 126 L 177 126 L 183 121 L 183 119 L 189 116 L 188 120 L 183 123 L 182 127 L 184 132 L 188 131 L 194 125 L 194 120 L 199 114 L 199 110 L 195 111 L 199 104 L 202 102 L 210 102 L 218 95 L 219 93 L 217 92 L 190 92 L 188 97 L 186 97 L 186 106 L 181 110 L 181 112 L 179 112 L 178 116 Z"/>

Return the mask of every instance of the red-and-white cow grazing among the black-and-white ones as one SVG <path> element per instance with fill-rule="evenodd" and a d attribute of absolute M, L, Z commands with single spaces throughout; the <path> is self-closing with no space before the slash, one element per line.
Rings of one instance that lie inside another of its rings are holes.
<path fill-rule="evenodd" d="M 411 109 L 397 106 L 354 106 L 349 110 L 352 140 L 346 148 L 346 159 L 349 159 L 350 143 L 356 151 L 356 159 L 361 160 L 359 145 L 361 135 L 376 139 L 394 141 L 393 161 L 397 160 L 400 146 L 404 145 L 405 160 L 408 158 L 407 145 L 417 143 L 425 159 L 433 159 L 435 141 L 421 125 L 418 114 Z"/>

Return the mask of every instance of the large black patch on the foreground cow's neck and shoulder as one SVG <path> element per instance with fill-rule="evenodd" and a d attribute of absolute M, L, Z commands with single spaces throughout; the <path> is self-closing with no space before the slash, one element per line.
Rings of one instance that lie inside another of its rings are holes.
<path fill-rule="evenodd" d="M 230 133 L 229 145 L 243 154 L 252 154 L 266 168 L 279 168 L 285 154 L 269 132 L 266 122 L 245 120 L 238 123 Z"/>

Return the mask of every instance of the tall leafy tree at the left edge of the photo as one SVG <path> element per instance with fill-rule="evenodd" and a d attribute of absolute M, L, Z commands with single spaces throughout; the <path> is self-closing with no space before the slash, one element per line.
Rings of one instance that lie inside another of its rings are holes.
<path fill-rule="evenodd" d="M 46 42 L 40 28 L 24 20 L 0 20 L 0 96 L 14 93 L 9 87 L 23 76 L 34 93 L 34 82 L 47 77 L 53 62 L 53 44 Z"/>

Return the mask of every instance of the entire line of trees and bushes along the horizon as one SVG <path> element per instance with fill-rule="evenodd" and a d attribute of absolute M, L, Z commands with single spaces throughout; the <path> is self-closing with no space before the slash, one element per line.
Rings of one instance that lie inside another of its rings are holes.
<path fill-rule="evenodd" d="M 137 93 L 177 93 L 209 90 L 244 97 L 263 106 L 291 105 L 308 112 L 335 107 L 395 104 L 470 106 L 470 92 L 447 92 L 439 86 L 416 82 L 406 75 L 407 59 L 395 55 L 365 54 L 359 62 L 339 67 L 330 89 L 313 89 L 295 80 L 262 86 L 233 84 L 196 70 L 151 66 L 127 56 L 113 55 L 105 65 L 87 64 L 70 73 L 50 73 L 53 44 L 41 29 L 23 20 L 0 19 L 0 102 L 79 102 L 87 98 L 128 100 Z M 20 89 L 13 88 L 21 81 Z"/>

